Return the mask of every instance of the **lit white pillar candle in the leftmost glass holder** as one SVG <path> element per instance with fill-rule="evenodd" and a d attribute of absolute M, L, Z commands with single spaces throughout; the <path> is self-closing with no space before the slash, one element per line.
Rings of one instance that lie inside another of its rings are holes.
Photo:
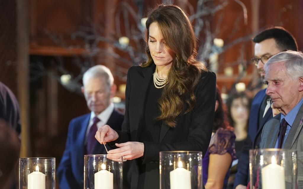
<path fill-rule="evenodd" d="M 45 189 L 45 174 L 39 172 L 38 165 L 36 171 L 27 175 L 27 189 Z"/>

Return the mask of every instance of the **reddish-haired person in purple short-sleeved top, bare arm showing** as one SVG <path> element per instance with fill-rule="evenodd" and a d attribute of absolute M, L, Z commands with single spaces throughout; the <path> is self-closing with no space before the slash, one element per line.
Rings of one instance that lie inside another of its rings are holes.
<path fill-rule="evenodd" d="M 235 134 L 226 118 L 221 93 L 216 89 L 215 120 L 208 150 L 203 158 L 205 189 L 225 189 L 229 168 L 235 159 Z"/>

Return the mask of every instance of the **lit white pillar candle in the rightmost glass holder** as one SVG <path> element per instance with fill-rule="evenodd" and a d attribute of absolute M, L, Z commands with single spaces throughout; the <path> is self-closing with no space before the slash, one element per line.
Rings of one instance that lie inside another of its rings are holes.
<path fill-rule="evenodd" d="M 284 168 L 277 165 L 275 156 L 271 157 L 271 164 L 262 169 L 262 189 L 285 189 Z"/>

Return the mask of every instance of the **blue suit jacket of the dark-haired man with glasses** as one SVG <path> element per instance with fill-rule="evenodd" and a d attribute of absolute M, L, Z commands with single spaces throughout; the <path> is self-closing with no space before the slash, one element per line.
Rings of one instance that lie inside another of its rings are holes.
<path fill-rule="evenodd" d="M 247 185 L 248 183 L 248 164 L 249 164 L 249 150 L 252 148 L 259 148 L 261 132 L 264 124 L 272 118 L 272 109 L 269 108 L 262 120 L 259 120 L 260 108 L 265 99 L 266 89 L 260 90 L 254 97 L 251 103 L 248 122 L 248 136 L 245 140 L 244 146 L 237 165 L 237 173 L 235 176 L 234 187 L 239 184 Z"/>

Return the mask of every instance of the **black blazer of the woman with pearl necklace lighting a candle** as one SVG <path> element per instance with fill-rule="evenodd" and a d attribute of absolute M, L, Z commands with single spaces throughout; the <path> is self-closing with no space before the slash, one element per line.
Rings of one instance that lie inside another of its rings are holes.
<path fill-rule="evenodd" d="M 155 64 L 142 68 L 131 67 L 127 74 L 125 91 L 125 119 L 122 125 L 122 132 L 118 131 L 119 138 L 111 142 L 138 141 L 140 125 L 145 124 L 144 111 L 145 99 L 148 96 L 149 83 L 155 72 Z M 184 104 L 181 114 L 176 118 L 175 128 L 170 128 L 164 122 L 161 124 L 161 131 L 158 141 L 144 142 L 145 152 L 142 159 L 143 164 L 158 163 L 159 152 L 174 150 L 202 151 L 203 155 L 208 148 L 212 124 L 215 114 L 215 73 L 204 72 L 201 75 L 196 89 L 196 105 L 193 111 L 184 114 Z M 131 188 L 136 189 L 138 185 L 138 161 L 131 161 Z M 159 171 L 157 173 L 159 174 Z M 150 179 L 150 178 L 148 178 Z M 155 182 L 155 188 L 159 185 Z"/>

